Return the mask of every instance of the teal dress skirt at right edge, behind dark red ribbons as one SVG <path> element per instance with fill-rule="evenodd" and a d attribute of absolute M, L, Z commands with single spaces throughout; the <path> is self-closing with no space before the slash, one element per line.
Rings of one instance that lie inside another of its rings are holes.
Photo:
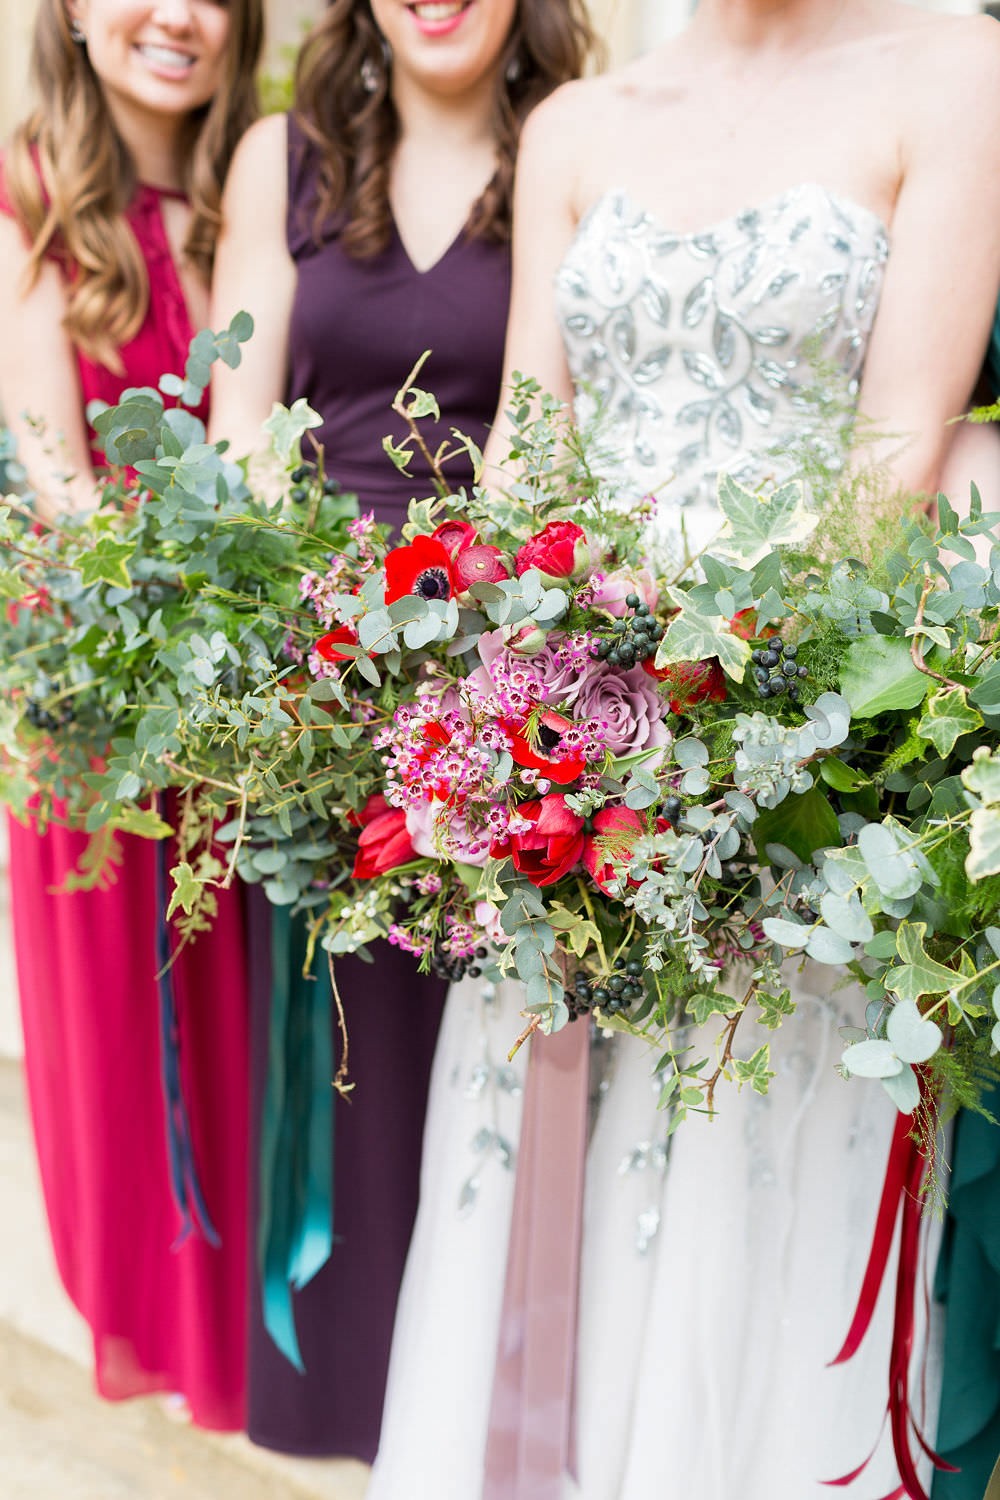
<path fill-rule="evenodd" d="M 1000 1114 L 1000 1089 L 984 1100 Z M 982 1500 L 1000 1454 L 1000 1125 L 963 1112 L 937 1296 L 946 1304 L 936 1449 L 961 1473 L 934 1476 L 933 1500 Z"/>

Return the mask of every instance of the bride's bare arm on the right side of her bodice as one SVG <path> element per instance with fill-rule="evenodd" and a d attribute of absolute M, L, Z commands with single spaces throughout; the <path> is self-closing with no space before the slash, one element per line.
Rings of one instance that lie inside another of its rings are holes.
<path fill-rule="evenodd" d="M 886 435 L 873 454 L 907 494 L 939 488 L 948 422 L 972 394 L 1000 284 L 1000 27 L 970 20 L 949 45 L 909 84 L 903 186 L 861 390 L 861 411 Z"/>

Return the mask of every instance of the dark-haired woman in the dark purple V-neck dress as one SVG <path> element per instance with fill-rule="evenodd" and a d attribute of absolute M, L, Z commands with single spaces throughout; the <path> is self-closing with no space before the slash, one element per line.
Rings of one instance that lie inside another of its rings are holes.
<path fill-rule="evenodd" d="M 250 130 L 234 162 L 214 315 L 247 308 L 256 333 L 240 370 L 219 374 L 217 436 L 246 453 L 271 402 L 304 396 L 324 418 L 328 471 L 379 522 L 399 526 L 411 495 L 432 494 L 418 460 L 409 480 L 382 456 L 399 426 L 393 396 L 433 350 L 426 384 L 448 423 L 484 436 L 519 130 L 579 75 L 589 42 L 580 0 L 334 0 L 306 42 L 295 110 Z M 453 478 L 468 483 L 469 466 Z M 375 968 L 340 960 L 337 982 L 357 1088 L 336 1107 L 336 1244 L 295 1298 L 304 1374 L 270 1342 L 253 1298 L 249 1431 L 271 1448 L 372 1460 L 444 984 L 385 945 Z M 267 999 L 252 1000 L 255 1137 Z"/>

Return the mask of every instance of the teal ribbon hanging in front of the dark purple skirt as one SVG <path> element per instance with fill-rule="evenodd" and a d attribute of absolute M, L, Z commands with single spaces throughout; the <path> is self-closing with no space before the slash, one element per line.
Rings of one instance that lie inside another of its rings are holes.
<path fill-rule="evenodd" d="M 292 1292 L 312 1281 L 333 1250 L 333 996 L 325 964 L 312 978 L 303 975 L 306 921 L 282 906 L 270 910 L 271 1016 L 256 1254 L 264 1326 L 304 1372 Z"/>

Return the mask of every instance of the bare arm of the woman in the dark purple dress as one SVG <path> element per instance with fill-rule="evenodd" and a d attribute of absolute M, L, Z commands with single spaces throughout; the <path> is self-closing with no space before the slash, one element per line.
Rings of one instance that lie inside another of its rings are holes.
<path fill-rule="evenodd" d="M 237 458 L 262 447 L 261 423 L 285 394 L 288 324 L 295 264 L 285 243 L 286 123 L 261 120 L 232 159 L 222 204 L 223 230 L 211 286 L 211 327 L 234 314 L 253 318 L 253 338 L 237 370 L 216 366 L 211 382 L 211 438 L 228 438 Z"/>

